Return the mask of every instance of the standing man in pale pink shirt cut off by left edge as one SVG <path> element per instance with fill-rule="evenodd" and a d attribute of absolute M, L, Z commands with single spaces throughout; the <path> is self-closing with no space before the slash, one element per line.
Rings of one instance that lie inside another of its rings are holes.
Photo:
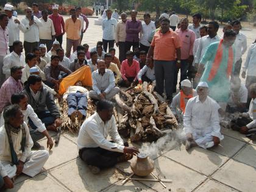
<path fill-rule="evenodd" d="M 2 73 L 4 57 L 9 54 L 8 21 L 9 18 L 6 14 L 0 14 L 0 87 L 5 80 L 5 75 Z"/>

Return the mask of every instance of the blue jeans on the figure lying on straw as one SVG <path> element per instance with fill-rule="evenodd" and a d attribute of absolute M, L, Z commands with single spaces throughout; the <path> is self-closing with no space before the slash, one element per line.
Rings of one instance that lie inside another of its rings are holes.
<path fill-rule="evenodd" d="M 87 111 L 87 96 L 84 93 L 69 93 L 68 98 L 66 98 L 66 101 L 68 101 L 68 116 L 71 116 L 71 114 L 78 110 L 84 117 L 86 116 Z"/>

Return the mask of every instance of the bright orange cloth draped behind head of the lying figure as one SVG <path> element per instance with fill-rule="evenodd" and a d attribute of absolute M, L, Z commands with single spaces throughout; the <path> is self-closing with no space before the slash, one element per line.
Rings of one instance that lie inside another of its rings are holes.
<path fill-rule="evenodd" d="M 73 86 L 77 81 L 82 81 L 84 86 L 91 87 L 93 86 L 93 82 L 91 80 L 91 68 L 90 66 L 82 66 L 77 69 L 74 73 L 69 74 L 69 76 L 65 77 L 62 82 L 60 82 L 59 86 L 59 94 L 63 94 L 66 92 L 66 89 L 69 86 Z"/>

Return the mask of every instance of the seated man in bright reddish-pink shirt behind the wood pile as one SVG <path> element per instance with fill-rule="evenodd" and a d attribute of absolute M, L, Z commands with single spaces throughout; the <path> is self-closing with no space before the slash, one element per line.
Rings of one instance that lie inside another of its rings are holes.
<path fill-rule="evenodd" d="M 130 85 L 137 84 L 137 75 L 140 72 L 140 63 L 133 59 L 133 52 L 126 52 L 126 60 L 122 62 L 121 74 L 122 79 L 118 84 L 121 87 L 130 87 Z"/>

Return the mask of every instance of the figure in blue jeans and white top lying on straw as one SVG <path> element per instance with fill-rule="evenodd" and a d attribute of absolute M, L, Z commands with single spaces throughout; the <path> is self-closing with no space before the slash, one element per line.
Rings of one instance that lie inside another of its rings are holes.
<path fill-rule="evenodd" d="M 74 86 L 69 86 L 63 94 L 63 99 L 68 102 L 68 116 L 72 121 L 76 116 L 78 120 L 86 117 L 88 90 L 82 86 L 83 84 L 79 80 Z"/>

